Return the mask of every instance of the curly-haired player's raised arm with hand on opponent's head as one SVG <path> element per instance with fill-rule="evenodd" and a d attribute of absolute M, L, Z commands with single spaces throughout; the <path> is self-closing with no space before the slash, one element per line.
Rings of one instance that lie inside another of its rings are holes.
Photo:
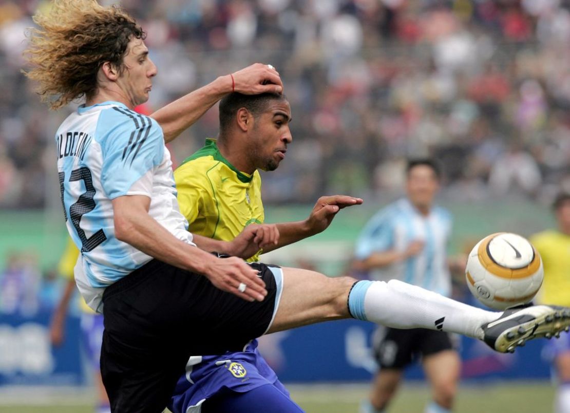
<path fill-rule="evenodd" d="M 219 76 L 213 82 L 174 100 L 150 116 L 160 124 L 164 140 L 168 143 L 232 91 L 246 95 L 280 93 L 283 91 L 283 83 L 275 68 L 270 68 L 267 64 L 254 63 L 231 75 Z"/>

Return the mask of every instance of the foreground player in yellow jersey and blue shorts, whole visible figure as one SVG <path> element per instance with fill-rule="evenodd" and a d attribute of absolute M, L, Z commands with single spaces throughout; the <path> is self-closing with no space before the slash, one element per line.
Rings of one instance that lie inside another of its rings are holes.
<path fill-rule="evenodd" d="M 231 94 L 221 101 L 219 110 L 218 139 L 206 139 L 205 146 L 174 171 L 174 180 L 188 230 L 227 241 L 247 225 L 264 223 L 258 169 L 274 171 L 284 158 L 292 140 L 288 129 L 291 110 L 287 99 L 278 94 Z M 265 116 L 269 122 L 252 127 L 251 122 L 258 116 Z M 323 231 L 335 215 L 331 205 L 342 208 L 353 202 L 348 196 L 321 197 L 307 220 L 263 225 L 259 238 L 263 238 L 264 248 L 247 261 L 258 261 L 262 252 Z M 240 374 L 224 367 L 222 362 L 227 360 L 243 367 L 246 383 Z M 186 412 L 200 405 L 202 413 L 225 412 L 237 411 L 238 403 L 252 409 L 264 403 L 260 400 L 278 409 L 275 411 L 301 411 L 259 354 L 257 340 L 253 340 L 243 352 L 190 358 L 169 407 L 174 412 Z"/>

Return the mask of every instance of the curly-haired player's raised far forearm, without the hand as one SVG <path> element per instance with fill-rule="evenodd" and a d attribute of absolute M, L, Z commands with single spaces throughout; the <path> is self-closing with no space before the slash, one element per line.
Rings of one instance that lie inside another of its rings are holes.
<path fill-rule="evenodd" d="M 218 100 L 231 92 L 231 76 L 220 76 L 150 115 L 162 127 L 166 143 L 188 129 Z"/>

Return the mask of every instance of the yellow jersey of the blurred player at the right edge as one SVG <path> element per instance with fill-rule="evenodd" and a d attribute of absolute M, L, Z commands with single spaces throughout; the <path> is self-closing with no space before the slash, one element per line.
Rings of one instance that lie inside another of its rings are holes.
<path fill-rule="evenodd" d="M 539 301 L 570 306 L 570 236 L 548 230 L 535 234 L 531 242 L 540 253 L 544 265 Z"/>

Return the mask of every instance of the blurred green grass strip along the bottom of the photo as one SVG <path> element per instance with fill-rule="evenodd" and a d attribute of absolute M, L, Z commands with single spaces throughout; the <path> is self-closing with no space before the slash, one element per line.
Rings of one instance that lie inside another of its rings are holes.
<path fill-rule="evenodd" d="M 307 413 L 357 413 L 360 400 L 368 386 L 359 385 L 296 385 L 287 386 L 294 400 Z M 547 382 L 463 384 L 459 388 L 456 413 L 543 413 L 552 411 L 554 388 Z M 18 398 L 21 398 L 19 400 Z M 16 400 L 18 399 L 18 400 Z M 93 413 L 92 396 L 0 395 L 0 413 Z M 429 390 L 421 385 L 406 384 L 394 399 L 389 412 L 423 412 L 429 401 Z M 255 412 L 252 412 L 255 413 Z"/>

